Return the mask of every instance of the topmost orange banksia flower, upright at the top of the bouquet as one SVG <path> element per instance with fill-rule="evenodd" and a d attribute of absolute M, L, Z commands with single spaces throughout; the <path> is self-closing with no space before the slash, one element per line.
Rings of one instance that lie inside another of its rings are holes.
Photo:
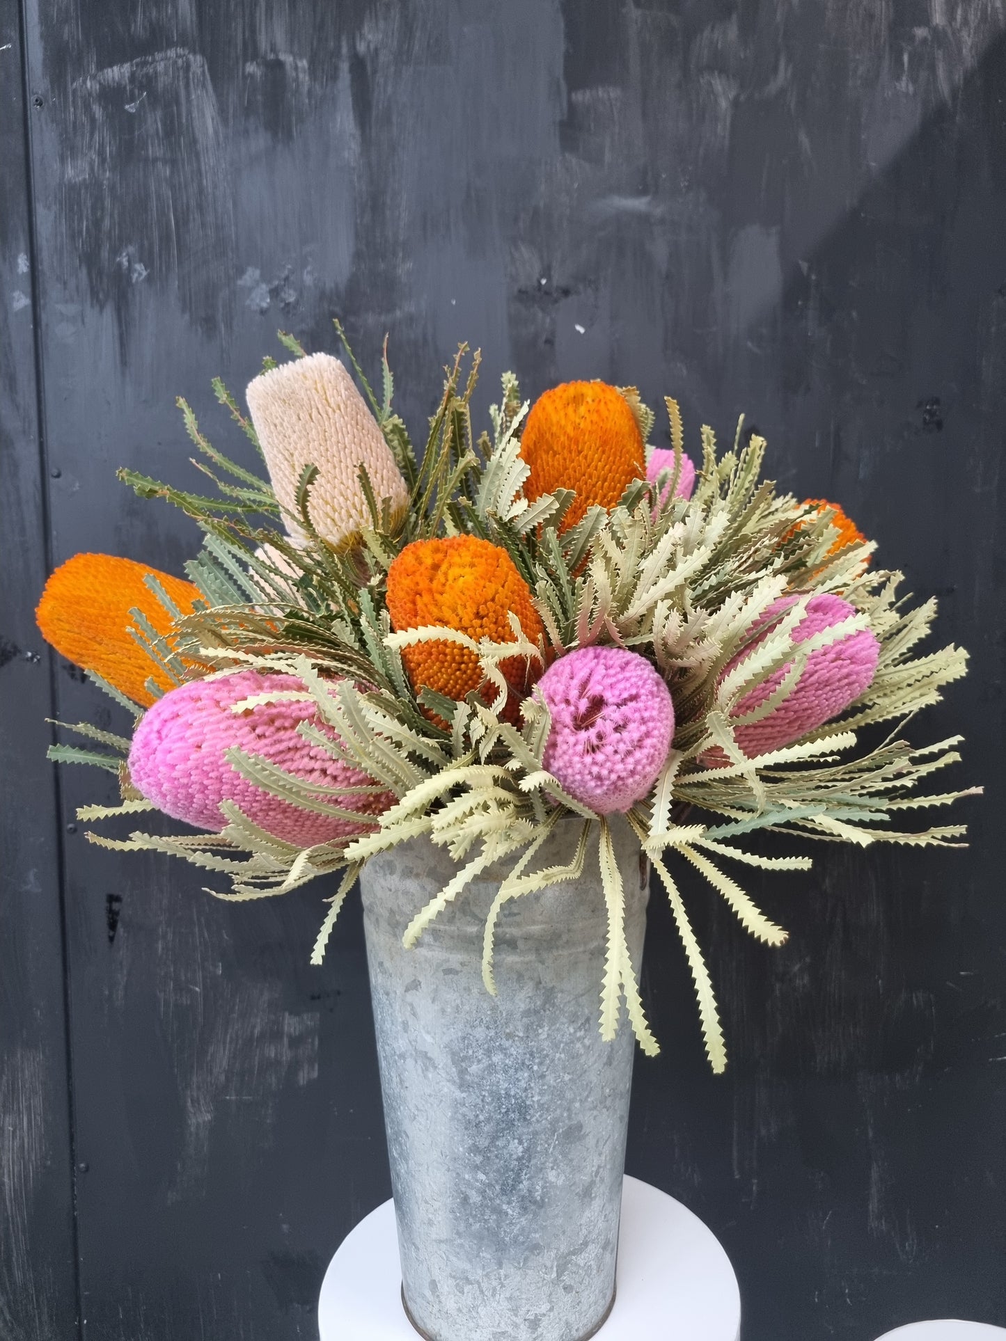
<path fill-rule="evenodd" d="M 613 508 L 625 485 L 647 475 L 636 416 L 606 382 L 563 382 L 539 396 L 520 437 L 520 456 L 531 467 L 524 484 L 531 502 L 555 489 L 577 491 L 563 531 L 594 503 Z"/>

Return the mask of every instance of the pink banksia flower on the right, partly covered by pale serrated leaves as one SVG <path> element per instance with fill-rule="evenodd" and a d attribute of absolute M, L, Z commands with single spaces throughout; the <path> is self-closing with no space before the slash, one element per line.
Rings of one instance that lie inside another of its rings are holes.
<path fill-rule="evenodd" d="M 769 606 L 759 621 L 765 632 L 727 664 L 723 670 L 724 676 L 751 654 L 769 633 L 770 626 L 795 601 L 797 597 L 789 595 Z M 794 642 L 806 642 L 816 633 L 830 629 L 833 625 L 852 618 L 853 614 L 856 614 L 854 607 L 848 601 L 842 601 L 841 597 L 830 593 L 812 597 L 807 601 L 806 614 L 790 636 Z M 837 642 L 829 642 L 828 646 L 812 652 L 795 688 L 783 703 L 761 721 L 735 728 L 740 750 L 748 759 L 759 754 L 769 754 L 771 750 L 781 750 L 845 712 L 871 687 L 879 656 L 880 642 L 869 629 L 848 633 Z M 758 708 L 779 688 L 789 670 L 790 665 L 787 664 L 770 675 L 767 680 L 762 680 L 750 693 L 744 695 L 734 708 L 732 715 L 742 717 Z M 726 763 L 727 760 L 722 751 L 710 751 L 706 755 L 706 762 Z"/>

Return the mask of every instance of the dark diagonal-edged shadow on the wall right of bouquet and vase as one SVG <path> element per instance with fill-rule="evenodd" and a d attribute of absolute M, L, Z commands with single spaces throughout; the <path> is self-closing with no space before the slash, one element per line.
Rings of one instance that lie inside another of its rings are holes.
<path fill-rule="evenodd" d="M 790 931 L 781 951 L 746 944 L 685 885 L 715 945 L 730 1097 L 706 1074 L 683 956 L 652 900 L 647 1011 L 665 1059 L 636 1069 L 629 1169 L 661 1171 L 722 1235 L 750 1341 L 864 1341 L 926 1317 L 1003 1325 L 1006 39 L 763 320 L 786 484 L 840 499 L 880 539 L 879 563 L 936 590 L 936 638 L 968 646 L 971 675 L 909 735 L 963 732 L 947 784 L 986 797 L 954 817 L 966 852 L 814 845 L 813 877 L 746 876 Z"/>

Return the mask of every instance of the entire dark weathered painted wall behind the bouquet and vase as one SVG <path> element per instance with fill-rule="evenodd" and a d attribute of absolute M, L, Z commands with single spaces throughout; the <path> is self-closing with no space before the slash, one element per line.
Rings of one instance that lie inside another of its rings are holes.
<path fill-rule="evenodd" d="M 655 898 L 628 1160 L 723 1238 L 746 1341 L 1006 1324 L 1005 32 L 1001 0 L 0 0 L 3 1341 L 313 1338 L 389 1193 L 357 905 L 310 970 L 327 890 L 229 908 L 89 846 L 101 778 L 56 794 L 39 723 L 114 709 L 31 620 L 75 550 L 180 571 L 193 527 L 114 468 L 196 483 L 173 397 L 240 451 L 209 375 L 278 326 L 331 350 L 335 312 L 369 367 L 390 333 L 417 429 L 460 338 L 482 406 L 514 367 L 744 409 L 938 591 L 971 849 L 752 881 L 778 952 L 684 873 L 719 1081 Z"/>

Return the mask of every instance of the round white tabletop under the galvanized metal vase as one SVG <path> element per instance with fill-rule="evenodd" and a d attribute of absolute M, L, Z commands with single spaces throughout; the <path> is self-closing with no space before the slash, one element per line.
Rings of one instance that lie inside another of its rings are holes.
<path fill-rule="evenodd" d="M 361 1220 L 329 1263 L 318 1328 L 321 1341 L 416 1341 L 401 1305 L 392 1202 Z M 740 1337 L 740 1291 L 727 1254 L 687 1207 L 634 1177 L 626 1177 L 622 1187 L 614 1307 L 596 1337 Z"/>

